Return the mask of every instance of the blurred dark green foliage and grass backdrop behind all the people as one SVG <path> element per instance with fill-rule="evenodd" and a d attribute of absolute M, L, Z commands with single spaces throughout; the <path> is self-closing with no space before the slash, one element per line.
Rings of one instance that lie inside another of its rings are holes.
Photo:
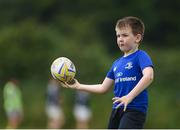
<path fill-rule="evenodd" d="M 101 83 L 112 62 L 122 55 L 114 27 L 124 16 L 144 21 L 140 49 L 154 63 L 145 128 L 180 128 L 179 7 L 179 0 L 1 0 L 0 128 L 7 124 L 3 88 L 11 77 L 19 80 L 22 90 L 24 119 L 19 128 L 46 128 L 46 87 L 57 57 L 74 62 L 81 83 Z M 74 128 L 74 90 L 62 88 L 61 95 L 63 128 Z M 107 128 L 112 97 L 113 92 L 90 95 L 89 128 Z"/>

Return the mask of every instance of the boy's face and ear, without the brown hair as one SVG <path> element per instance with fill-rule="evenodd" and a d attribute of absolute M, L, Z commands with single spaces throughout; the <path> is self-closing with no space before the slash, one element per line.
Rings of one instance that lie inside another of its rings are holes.
<path fill-rule="evenodd" d="M 116 28 L 117 44 L 120 50 L 128 53 L 135 49 L 141 40 L 141 35 L 134 35 L 130 26 Z"/>

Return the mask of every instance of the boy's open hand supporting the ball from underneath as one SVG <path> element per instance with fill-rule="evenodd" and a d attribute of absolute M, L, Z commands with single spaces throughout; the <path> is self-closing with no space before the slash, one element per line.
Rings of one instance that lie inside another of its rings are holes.
<path fill-rule="evenodd" d="M 70 82 L 62 82 L 60 81 L 60 85 L 64 88 L 73 88 L 73 89 L 78 89 L 80 86 L 80 83 L 77 81 L 77 79 L 73 79 Z"/>

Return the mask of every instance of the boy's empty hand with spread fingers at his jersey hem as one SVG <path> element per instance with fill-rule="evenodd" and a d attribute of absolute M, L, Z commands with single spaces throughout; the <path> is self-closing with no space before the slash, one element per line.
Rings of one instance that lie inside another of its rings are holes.
<path fill-rule="evenodd" d="M 124 111 L 126 111 L 127 105 L 132 101 L 132 99 L 127 95 L 123 97 L 114 97 L 112 98 L 112 100 L 113 100 L 113 104 L 119 102 L 116 108 L 119 108 L 120 106 L 124 105 Z"/>

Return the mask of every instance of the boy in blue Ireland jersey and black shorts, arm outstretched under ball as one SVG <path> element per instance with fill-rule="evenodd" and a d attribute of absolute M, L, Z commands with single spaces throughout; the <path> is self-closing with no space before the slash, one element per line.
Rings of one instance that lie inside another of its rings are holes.
<path fill-rule="evenodd" d="M 109 129 L 143 128 L 148 107 L 146 88 L 153 81 L 153 64 L 148 54 L 138 50 L 144 36 L 144 24 L 136 17 L 117 21 L 117 44 L 124 56 L 118 58 L 102 84 L 61 83 L 64 87 L 105 93 L 114 84 L 114 98 Z"/>

